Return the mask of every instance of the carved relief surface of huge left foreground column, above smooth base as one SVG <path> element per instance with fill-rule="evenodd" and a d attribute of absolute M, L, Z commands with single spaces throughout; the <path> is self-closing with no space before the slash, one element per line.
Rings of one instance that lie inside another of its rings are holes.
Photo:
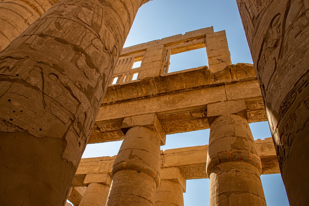
<path fill-rule="evenodd" d="M 10 44 L 0 57 L 1 96 L 8 102 L 1 103 L 4 120 L 36 137 L 65 136 L 64 158 L 77 165 L 80 157 L 70 153 L 86 145 L 114 58 L 134 17 L 128 5 L 132 2 L 60 1 Z M 12 114 L 17 111 L 24 118 Z M 25 124 L 28 115 L 37 120 Z M 56 124 L 59 129 L 53 131 Z"/>

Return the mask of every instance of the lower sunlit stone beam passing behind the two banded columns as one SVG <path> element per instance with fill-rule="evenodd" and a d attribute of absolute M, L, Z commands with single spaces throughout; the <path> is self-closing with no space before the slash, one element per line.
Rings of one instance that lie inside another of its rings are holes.
<path fill-rule="evenodd" d="M 280 173 L 272 138 L 255 140 L 257 153 L 262 162 L 262 174 Z M 185 179 L 203 179 L 206 175 L 208 145 L 161 150 L 161 168 L 178 167 Z M 86 186 L 87 174 L 108 173 L 112 169 L 113 157 L 81 159 L 76 171 L 73 187 Z"/>

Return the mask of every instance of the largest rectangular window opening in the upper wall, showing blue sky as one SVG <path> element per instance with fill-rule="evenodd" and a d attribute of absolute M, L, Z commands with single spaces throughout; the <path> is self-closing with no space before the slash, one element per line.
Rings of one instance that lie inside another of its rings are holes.
<path fill-rule="evenodd" d="M 187 52 L 172 54 L 169 61 L 168 73 L 207 66 L 206 48 L 199 48 Z"/>

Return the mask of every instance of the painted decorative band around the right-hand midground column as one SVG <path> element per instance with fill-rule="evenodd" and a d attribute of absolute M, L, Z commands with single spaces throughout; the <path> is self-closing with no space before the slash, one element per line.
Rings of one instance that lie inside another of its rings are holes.
<path fill-rule="evenodd" d="M 247 162 L 255 166 L 260 174 L 262 173 L 262 162 L 260 157 L 252 153 L 243 153 L 239 151 L 224 151 L 207 159 L 206 172 L 209 175 L 212 169 L 225 162 Z"/>

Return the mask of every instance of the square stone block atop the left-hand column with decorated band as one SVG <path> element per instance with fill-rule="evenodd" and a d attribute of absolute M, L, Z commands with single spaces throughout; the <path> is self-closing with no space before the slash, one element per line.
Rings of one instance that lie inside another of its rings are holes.
<path fill-rule="evenodd" d="M 129 128 L 143 126 L 150 128 L 159 134 L 161 145 L 165 145 L 166 134 L 155 113 L 125 117 L 121 125 L 121 131 L 125 134 Z"/>

